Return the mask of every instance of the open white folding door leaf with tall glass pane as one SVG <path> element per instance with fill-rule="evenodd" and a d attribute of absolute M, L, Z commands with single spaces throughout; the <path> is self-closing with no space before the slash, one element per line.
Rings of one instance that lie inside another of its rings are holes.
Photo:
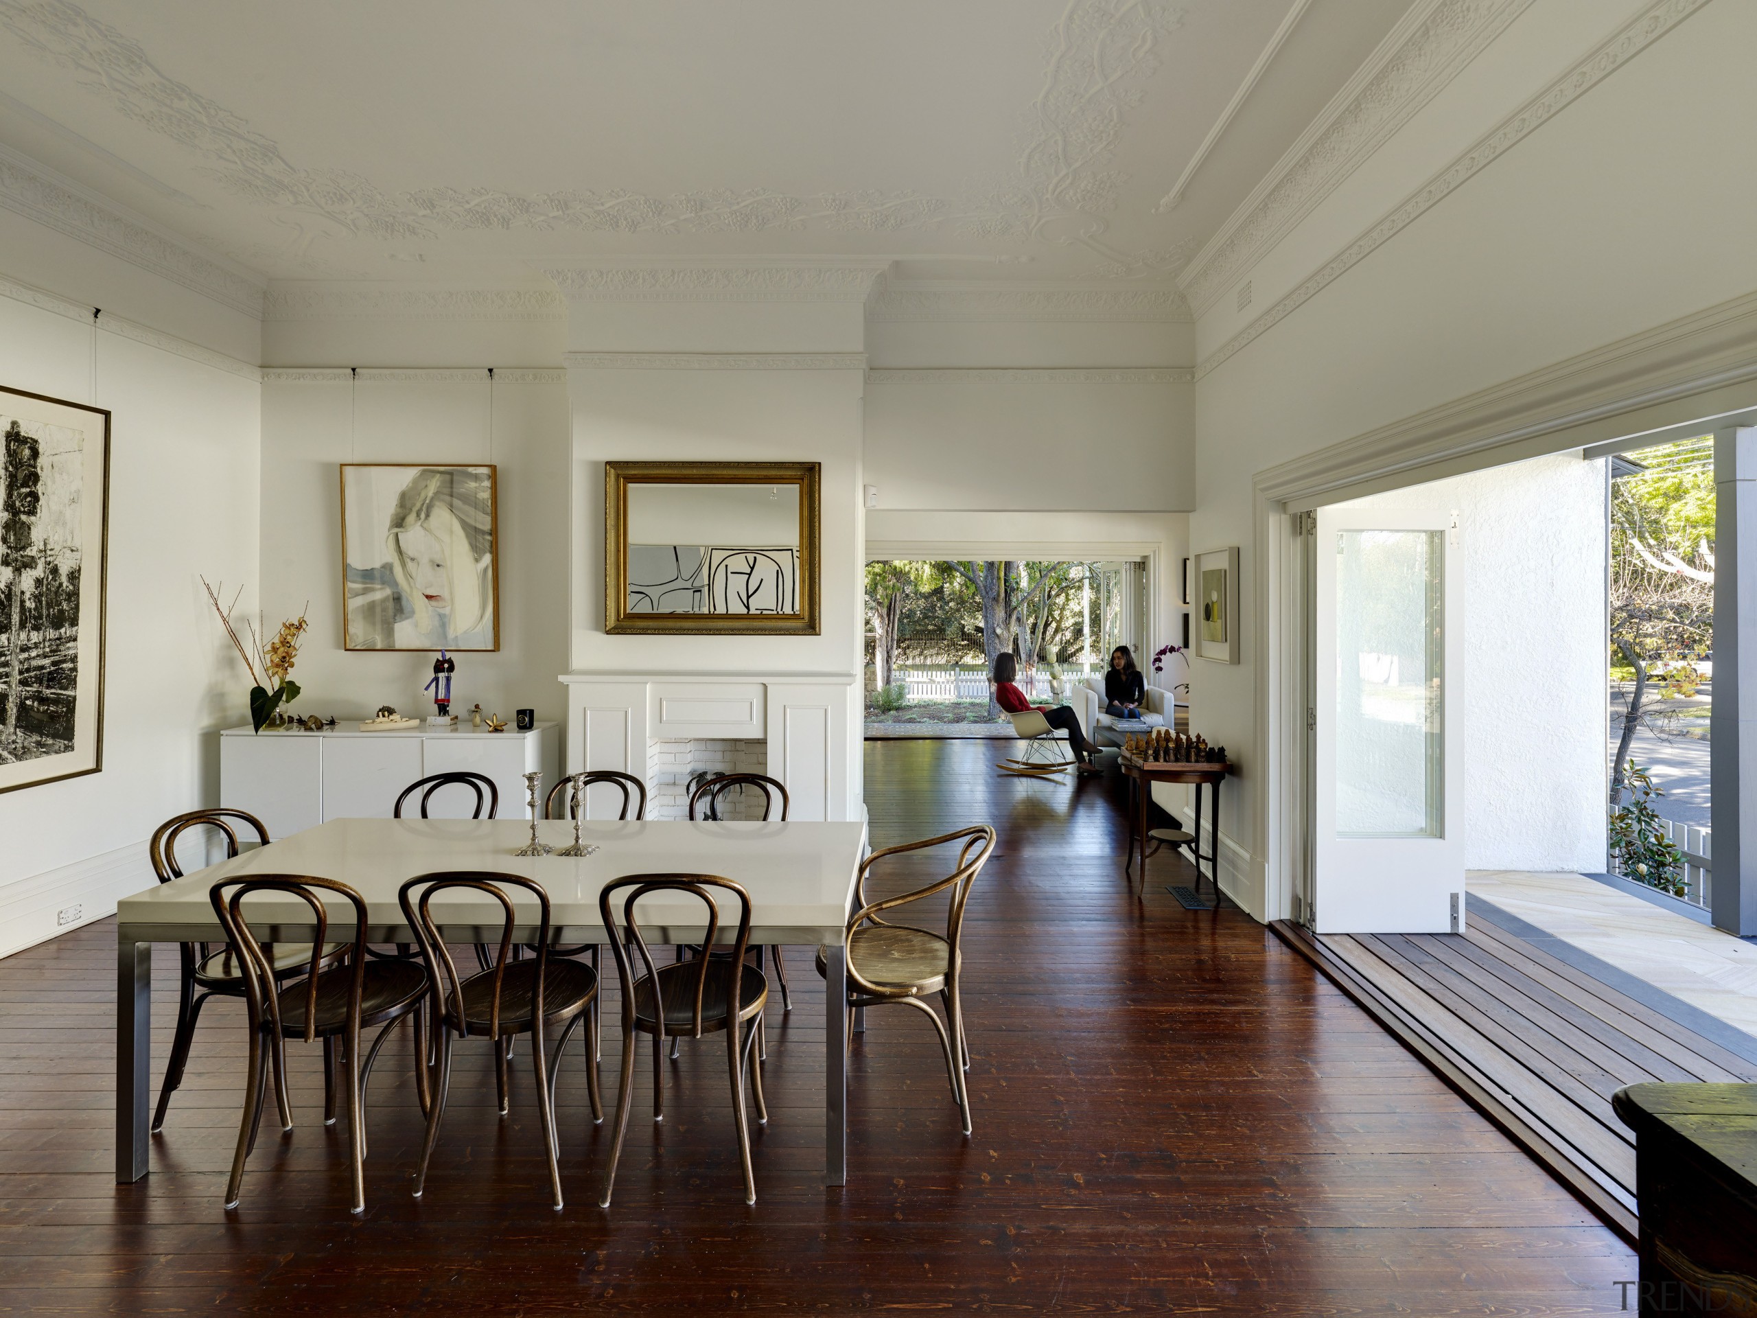
<path fill-rule="evenodd" d="M 1312 924 L 1444 933 L 1464 923 L 1457 532 L 1318 511 Z"/>

